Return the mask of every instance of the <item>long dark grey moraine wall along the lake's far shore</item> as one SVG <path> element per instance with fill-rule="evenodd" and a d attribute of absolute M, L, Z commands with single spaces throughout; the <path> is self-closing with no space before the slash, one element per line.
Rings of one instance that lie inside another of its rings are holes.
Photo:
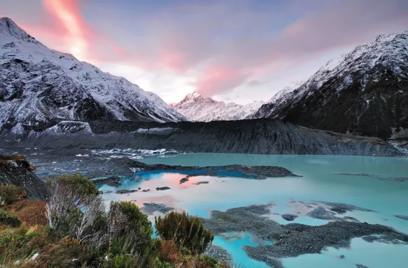
<path fill-rule="evenodd" d="M 240 154 L 404 156 L 378 138 L 318 131 L 276 119 L 164 124 L 61 121 L 52 127 L 32 130 L 18 139 L 9 134 L 2 137 L 0 147 L 3 148 L 166 148 Z"/>

